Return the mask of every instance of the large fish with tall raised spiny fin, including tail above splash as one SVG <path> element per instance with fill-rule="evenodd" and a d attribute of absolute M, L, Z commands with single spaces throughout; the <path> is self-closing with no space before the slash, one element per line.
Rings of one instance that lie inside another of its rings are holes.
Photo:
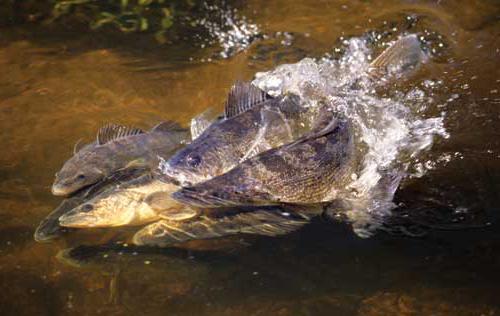
<path fill-rule="evenodd" d="M 424 57 L 417 37 L 408 35 L 380 54 L 366 74 L 385 85 L 418 67 Z M 248 158 L 296 140 L 320 116 L 293 97 L 272 98 L 249 83 L 237 83 L 224 117 L 160 165 L 164 179 L 190 186 L 224 174 Z"/>

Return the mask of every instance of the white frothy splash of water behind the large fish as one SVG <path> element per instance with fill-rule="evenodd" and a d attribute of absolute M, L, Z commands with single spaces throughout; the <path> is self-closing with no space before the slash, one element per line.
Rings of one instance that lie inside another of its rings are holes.
<path fill-rule="evenodd" d="M 448 133 L 444 114 L 419 114 L 433 102 L 432 95 L 413 85 L 391 97 L 379 96 L 376 88 L 390 78 L 375 82 L 368 75 L 372 50 L 361 38 L 344 45 L 339 59 L 305 58 L 257 73 L 253 84 L 273 96 L 297 95 L 306 107 L 327 103 L 352 121 L 358 170 L 342 196 L 344 214 L 359 236 L 368 237 L 390 215 L 394 193 L 419 154 L 432 146 L 435 136 L 447 138 Z"/>

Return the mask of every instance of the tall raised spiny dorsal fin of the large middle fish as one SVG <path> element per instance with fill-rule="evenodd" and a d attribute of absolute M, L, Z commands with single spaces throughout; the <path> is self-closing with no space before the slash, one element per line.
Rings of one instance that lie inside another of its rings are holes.
<path fill-rule="evenodd" d="M 227 96 L 224 116 L 225 118 L 236 116 L 270 98 L 265 91 L 253 86 L 250 82 L 237 81 Z"/>

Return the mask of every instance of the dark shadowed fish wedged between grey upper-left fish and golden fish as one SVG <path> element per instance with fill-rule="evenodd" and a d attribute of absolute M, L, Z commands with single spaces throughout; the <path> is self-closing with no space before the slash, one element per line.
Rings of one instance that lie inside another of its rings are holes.
<path fill-rule="evenodd" d="M 71 197 L 64 199 L 59 206 L 54 209 L 45 219 L 38 225 L 33 235 L 37 242 L 48 242 L 61 237 L 71 229 L 63 227 L 59 224 L 59 217 L 70 212 L 75 207 L 78 207 L 88 199 L 99 195 L 112 186 L 116 186 L 122 182 L 130 181 L 131 179 L 144 174 L 147 169 L 126 169 L 121 172 L 116 172 L 111 176 L 100 180 L 96 184 L 79 190 Z"/>

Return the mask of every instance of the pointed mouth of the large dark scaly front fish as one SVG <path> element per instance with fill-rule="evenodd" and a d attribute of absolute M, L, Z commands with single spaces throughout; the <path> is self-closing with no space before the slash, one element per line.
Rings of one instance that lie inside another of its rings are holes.
<path fill-rule="evenodd" d="M 179 191 L 174 192 L 172 194 L 172 198 L 182 204 L 201 208 L 231 207 L 241 205 L 241 203 L 230 201 L 214 194 L 198 192 L 193 188 L 182 188 Z"/>

